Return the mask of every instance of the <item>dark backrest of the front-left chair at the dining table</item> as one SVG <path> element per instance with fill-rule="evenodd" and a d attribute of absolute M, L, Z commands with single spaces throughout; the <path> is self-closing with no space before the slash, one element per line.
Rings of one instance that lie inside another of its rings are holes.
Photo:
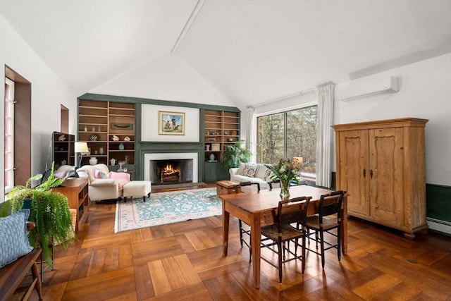
<path fill-rule="evenodd" d="M 304 225 L 307 219 L 307 208 L 311 197 L 293 197 L 280 201 L 277 209 L 277 219 L 279 232 L 283 226 L 290 223 Z"/>

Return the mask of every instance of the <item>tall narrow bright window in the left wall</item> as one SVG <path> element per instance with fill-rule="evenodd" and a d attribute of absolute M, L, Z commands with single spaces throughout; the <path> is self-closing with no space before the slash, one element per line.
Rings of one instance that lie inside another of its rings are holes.
<path fill-rule="evenodd" d="M 5 193 L 14 186 L 14 82 L 5 78 Z"/>

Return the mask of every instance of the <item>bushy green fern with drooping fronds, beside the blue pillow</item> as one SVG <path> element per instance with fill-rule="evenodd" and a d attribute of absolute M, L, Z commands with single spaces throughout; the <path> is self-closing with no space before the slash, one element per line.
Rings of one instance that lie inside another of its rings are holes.
<path fill-rule="evenodd" d="M 53 267 L 50 247 L 61 244 L 67 249 L 69 241 L 74 237 L 74 230 L 67 197 L 51 190 L 61 185 L 66 178 L 56 178 L 52 164 L 47 180 L 31 188 L 32 181 L 41 179 L 42 174 L 38 174 L 29 178 L 25 186 L 15 186 L 8 193 L 0 216 L 30 208 L 28 220 L 35 222 L 36 227 L 28 234 L 28 240 L 32 247 L 42 248 L 45 262 Z"/>

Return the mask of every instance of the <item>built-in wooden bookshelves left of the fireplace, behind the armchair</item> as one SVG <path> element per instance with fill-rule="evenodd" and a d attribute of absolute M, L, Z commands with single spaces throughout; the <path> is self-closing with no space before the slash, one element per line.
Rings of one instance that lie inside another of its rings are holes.
<path fill-rule="evenodd" d="M 124 166 L 134 168 L 135 104 L 80 100 L 78 140 L 87 142 L 89 147 L 81 165 L 96 157 L 98 163 L 110 165 L 115 159 L 115 166 L 126 161 Z"/>

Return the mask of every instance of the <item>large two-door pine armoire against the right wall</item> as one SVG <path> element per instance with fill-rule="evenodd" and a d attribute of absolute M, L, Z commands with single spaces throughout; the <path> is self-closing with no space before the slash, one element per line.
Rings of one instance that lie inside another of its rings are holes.
<path fill-rule="evenodd" d="M 427 228 L 424 128 L 428 120 L 399 118 L 333 125 L 336 183 L 352 216 L 404 232 Z"/>

